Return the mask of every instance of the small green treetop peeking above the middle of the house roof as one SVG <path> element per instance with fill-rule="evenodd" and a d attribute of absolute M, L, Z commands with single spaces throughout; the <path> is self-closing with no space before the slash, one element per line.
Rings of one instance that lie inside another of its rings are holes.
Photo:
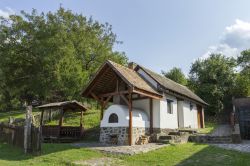
<path fill-rule="evenodd" d="M 162 71 L 162 74 L 179 84 L 186 85 L 187 79 L 180 68 L 174 67 L 173 69 L 169 70 L 168 72 Z"/>

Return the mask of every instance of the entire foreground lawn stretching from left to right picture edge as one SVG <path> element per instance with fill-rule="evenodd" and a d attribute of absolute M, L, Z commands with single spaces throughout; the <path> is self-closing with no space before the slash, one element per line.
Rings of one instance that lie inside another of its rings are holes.
<path fill-rule="evenodd" d="M 187 143 L 134 156 L 106 155 L 70 144 L 43 144 L 41 156 L 24 155 L 20 149 L 0 144 L 0 165 L 73 165 L 74 161 L 111 157 L 119 165 L 247 166 L 249 153 L 229 151 L 205 144 Z"/>

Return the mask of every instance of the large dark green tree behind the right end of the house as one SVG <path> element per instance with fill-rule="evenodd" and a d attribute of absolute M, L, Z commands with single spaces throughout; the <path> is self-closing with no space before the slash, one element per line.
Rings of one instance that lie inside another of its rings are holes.
<path fill-rule="evenodd" d="M 214 115 L 230 108 L 235 67 L 235 59 L 221 54 L 211 54 L 209 58 L 192 64 L 189 86 L 209 104 L 208 113 Z"/>

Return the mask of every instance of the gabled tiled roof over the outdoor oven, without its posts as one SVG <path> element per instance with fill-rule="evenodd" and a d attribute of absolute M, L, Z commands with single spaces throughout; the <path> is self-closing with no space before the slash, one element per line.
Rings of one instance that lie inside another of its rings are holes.
<path fill-rule="evenodd" d="M 112 61 L 106 61 L 102 65 L 94 78 L 87 85 L 87 88 L 83 90 L 82 95 L 91 97 L 89 96 L 91 90 L 98 94 L 113 92 L 116 88 L 114 85 L 116 84 L 115 78 L 117 78 L 117 76 L 131 88 L 136 88 L 162 97 L 162 95 L 147 84 L 136 71 Z"/>

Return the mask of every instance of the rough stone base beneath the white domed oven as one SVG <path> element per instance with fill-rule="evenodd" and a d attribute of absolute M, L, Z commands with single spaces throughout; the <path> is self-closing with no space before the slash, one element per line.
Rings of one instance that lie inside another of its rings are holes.
<path fill-rule="evenodd" d="M 128 145 L 128 127 L 101 127 L 100 142 L 104 144 Z M 132 144 L 136 144 L 141 135 L 148 135 L 149 128 L 133 127 Z M 117 136 L 117 142 L 112 142 L 112 137 Z"/>

